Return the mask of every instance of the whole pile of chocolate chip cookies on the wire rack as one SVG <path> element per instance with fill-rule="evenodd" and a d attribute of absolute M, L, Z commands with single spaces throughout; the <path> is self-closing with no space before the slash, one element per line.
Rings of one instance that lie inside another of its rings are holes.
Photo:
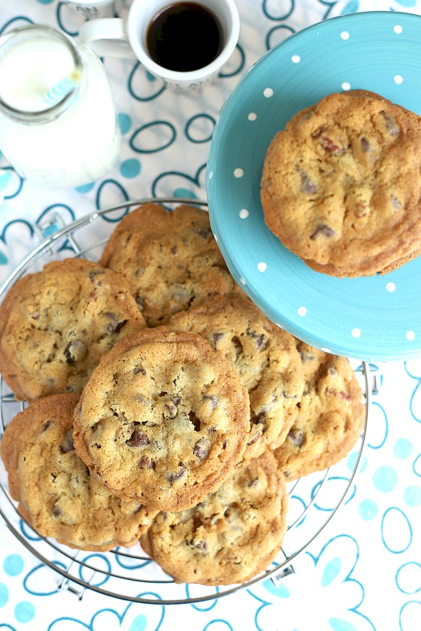
<path fill-rule="evenodd" d="M 287 482 L 342 459 L 363 426 L 348 360 L 268 320 L 186 205 L 143 205 L 99 262 L 18 280 L 0 372 L 29 403 L 0 444 L 22 517 L 71 548 L 140 542 L 178 583 L 264 571 Z"/>

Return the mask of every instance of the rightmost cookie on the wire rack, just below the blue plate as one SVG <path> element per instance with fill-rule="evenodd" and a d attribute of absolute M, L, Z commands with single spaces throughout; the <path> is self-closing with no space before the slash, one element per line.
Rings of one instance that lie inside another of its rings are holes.
<path fill-rule="evenodd" d="M 349 360 L 298 341 L 305 391 L 297 419 L 274 454 L 287 480 L 344 458 L 363 428 L 365 407 Z"/>

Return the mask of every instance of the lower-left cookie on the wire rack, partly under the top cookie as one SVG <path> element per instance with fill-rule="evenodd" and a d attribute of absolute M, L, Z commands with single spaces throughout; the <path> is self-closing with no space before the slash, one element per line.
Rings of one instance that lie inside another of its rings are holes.
<path fill-rule="evenodd" d="M 72 440 L 78 400 L 77 393 L 44 397 L 8 424 L 0 447 L 11 496 L 42 536 L 81 550 L 127 548 L 156 513 L 121 501 L 89 474 Z"/>

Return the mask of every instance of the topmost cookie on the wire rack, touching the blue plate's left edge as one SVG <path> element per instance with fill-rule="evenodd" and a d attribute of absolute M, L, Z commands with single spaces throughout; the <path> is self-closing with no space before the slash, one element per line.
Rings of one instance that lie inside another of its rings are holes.
<path fill-rule="evenodd" d="M 235 285 L 208 213 L 187 205 L 133 210 L 112 233 L 100 263 L 126 276 L 149 327 Z"/>

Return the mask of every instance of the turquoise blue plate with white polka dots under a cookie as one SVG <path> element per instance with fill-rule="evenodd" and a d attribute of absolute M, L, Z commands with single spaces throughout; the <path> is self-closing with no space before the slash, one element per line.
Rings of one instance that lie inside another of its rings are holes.
<path fill-rule="evenodd" d="M 290 36 L 236 86 L 210 145 L 210 223 L 236 282 L 288 332 L 358 360 L 421 355 L 421 257 L 370 278 L 312 271 L 265 225 L 260 175 L 274 135 L 330 93 L 370 90 L 421 114 L 420 34 L 420 16 L 376 11 Z"/>

